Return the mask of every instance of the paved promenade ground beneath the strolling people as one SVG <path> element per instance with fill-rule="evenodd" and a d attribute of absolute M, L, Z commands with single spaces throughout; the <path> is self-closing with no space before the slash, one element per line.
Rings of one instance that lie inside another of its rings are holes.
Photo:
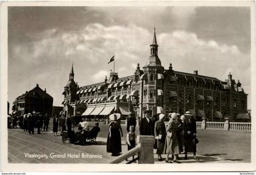
<path fill-rule="evenodd" d="M 90 127 L 93 122 L 90 123 Z M 108 126 L 100 123 L 101 132 L 98 134 L 97 145 L 80 146 L 74 144 L 62 143 L 61 136 L 54 136 L 52 128 L 50 131 L 41 131 L 41 134 L 29 134 L 23 129 L 8 129 L 8 159 L 10 163 L 107 163 L 115 159 L 110 153 L 106 153 L 106 142 Z M 124 137 L 122 137 L 123 154 L 127 151 L 126 145 L 126 126 L 122 126 Z M 74 128 L 76 130 L 77 128 Z M 136 128 L 138 135 L 138 126 Z M 60 134 L 60 132 L 59 132 Z M 251 162 L 251 131 L 220 131 L 220 130 L 202 130 L 197 129 L 197 157 L 199 160 L 193 160 L 193 155 L 188 155 L 188 160 L 182 160 L 182 163 L 221 163 Z M 41 159 L 26 157 L 25 154 L 43 154 L 46 157 Z M 51 158 L 50 154 L 65 155 L 65 158 Z M 69 157 L 68 157 L 69 154 Z M 76 157 L 79 155 L 79 157 Z M 82 157 L 84 155 L 84 157 Z M 74 156 L 74 157 L 72 157 Z M 94 156 L 94 157 L 93 157 Z M 155 154 L 155 163 L 157 155 Z M 163 155 L 165 158 L 165 155 Z M 190 159 L 191 158 L 191 159 Z M 126 162 L 123 162 L 126 163 Z"/>

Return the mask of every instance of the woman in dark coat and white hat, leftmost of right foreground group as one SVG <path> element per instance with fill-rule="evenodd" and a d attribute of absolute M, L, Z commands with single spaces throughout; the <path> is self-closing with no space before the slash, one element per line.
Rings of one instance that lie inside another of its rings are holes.
<path fill-rule="evenodd" d="M 165 139 L 166 139 L 166 128 L 165 122 L 163 122 L 163 118 L 165 118 L 165 114 L 159 115 L 159 120 L 155 122 L 155 140 L 157 140 L 157 154 L 158 160 L 162 161 L 162 156 L 165 148 Z"/>

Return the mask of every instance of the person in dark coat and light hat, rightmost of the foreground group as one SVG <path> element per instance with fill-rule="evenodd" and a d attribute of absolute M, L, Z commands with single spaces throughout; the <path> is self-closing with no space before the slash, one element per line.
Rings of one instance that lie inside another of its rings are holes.
<path fill-rule="evenodd" d="M 196 120 L 190 111 L 185 112 L 185 117 L 188 118 L 184 126 L 184 141 L 185 141 L 185 160 L 188 159 L 187 153 L 194 154 L 194 160 L 198 160 L 196 157 Z"/>

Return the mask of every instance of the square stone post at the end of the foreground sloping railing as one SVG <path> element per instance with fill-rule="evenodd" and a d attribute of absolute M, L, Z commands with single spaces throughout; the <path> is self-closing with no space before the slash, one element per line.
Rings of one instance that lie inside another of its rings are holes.
<path fill-rule="evenodd" d="M 138 163 L 154 163 L 154 136 L 138 136 L 140 153 Z"/>

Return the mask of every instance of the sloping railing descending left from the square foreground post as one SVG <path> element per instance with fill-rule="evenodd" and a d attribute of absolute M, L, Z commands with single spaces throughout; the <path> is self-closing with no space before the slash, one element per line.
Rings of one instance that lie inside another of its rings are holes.
<path fill-rule="evenodd" d="M 136 160 L 139 159 L 138 154 L 140 154 L 140 151 L 141 151 L 141 146 L 140 146 L 140 143 L 138 143 L 138 145 L 135 148 L 130 149 L 126 154 L 123 154 L 121 156 L 116 157 L 115 160 L 112 160 L 109 163 L 110 164 L 121 163 L 121 162 L 125 161 L 126 159 L 128 159 L 129 157 L 137 155 L 137 157 L 135 159 L 131 160 L 130 162 L 127 162 L 127 164 L 133 163 L 133 162 L 135 162 Z"/>

